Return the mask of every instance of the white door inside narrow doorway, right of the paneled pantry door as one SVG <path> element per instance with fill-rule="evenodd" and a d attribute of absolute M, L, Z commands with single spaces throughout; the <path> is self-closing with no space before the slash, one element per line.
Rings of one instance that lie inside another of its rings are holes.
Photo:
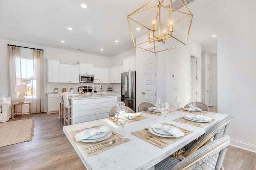
<path fill-rule="evenodd" d="M 196 100 L 196 57 L 191 56 L 190 97 Z"/>

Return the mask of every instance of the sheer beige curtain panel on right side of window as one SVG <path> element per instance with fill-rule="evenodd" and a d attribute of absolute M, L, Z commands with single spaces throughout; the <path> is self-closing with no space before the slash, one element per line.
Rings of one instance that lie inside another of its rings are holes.
<path fill-rule="evenodd" d="M 32 113 L 44 112 L 44 51 L 33 50 Z"/>

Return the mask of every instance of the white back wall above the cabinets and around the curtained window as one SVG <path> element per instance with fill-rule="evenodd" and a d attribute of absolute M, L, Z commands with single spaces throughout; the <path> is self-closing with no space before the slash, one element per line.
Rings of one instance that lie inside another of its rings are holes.
<path fill-rule="evenodd" d="M 111 59 L 109 57 L 103 57 L 98 55 L 91 55 L 85 54 L 80 52 L 74 51 L 67 51 L 63 49 L 56 49 L 51 47 L 45 47 L 41 45 L 34 45 L 29 43 L 22 43 L 17 41 L 10 41 L 6 39 L 0 39 L 0 93 L 8 94 L 8 51 L 7 51 L 7 44 L 12 45 L 20 45 L 24 47 L 32 47 L 38 49 L 44 49 L 44 58 L 52 58 L 52 59 L 60 59 L 60 62 L 63 63 L 76 63 L 78 61 L 84 63 L 92 63 L 95 66 L 102 66 L 102 67 L 110 67 L 111 66 Z M 33 51 L 31 49 L 20 49 L 22 55 L 30 55 Z M 22 56 L 23 57 L 23 56 Z M 45 102 L 44 102 L 44 110 L 47 111 L 47 97 L 46 92 L 48 91 L 47 88 L 47 62 L 44 61 L 44 91 L 45 91 Z M 78 84 L 79 85 L 79 84 Z"/>

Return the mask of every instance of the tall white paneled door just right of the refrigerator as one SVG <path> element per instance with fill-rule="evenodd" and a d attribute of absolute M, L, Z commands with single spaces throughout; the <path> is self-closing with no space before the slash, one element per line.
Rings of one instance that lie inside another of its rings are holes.
<path fill-rule="evenodd" d="M 154 103 L 156 98 L 156 55 L 142 53 L 142 102 Z"/>

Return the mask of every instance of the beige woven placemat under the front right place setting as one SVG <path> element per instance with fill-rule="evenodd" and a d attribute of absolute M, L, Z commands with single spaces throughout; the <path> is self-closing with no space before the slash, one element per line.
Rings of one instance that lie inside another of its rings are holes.
<path fill-rule="evenodd" d="M 172 125 L 170 124 L 171 126 L 174 126 L 174 127 L 177 127 L 175 125 Z M 181 127 L 177 127 L 178 129 L 182 130 L 184 132 L 184 137 L 187 136 L 188 134 L 192 133 L 192 131 L 189 131 L 189 130 L 186 130 L 186 129 L 183 129 Z M 132 132 L 132 135 L 135 135 L 136 137 L 148 142 L 148 143 L 151 143 L 152 145 L 155 145 L 157 147 L 160 147 L 160 148 L 165 148 L 169 145 L 171 145 L 172 143 L 182 139 L 183 137 L 179 137 L 179 138 L 166 138 L 166 137 L 159 137 L 159 136 L 156 136 L 152 133 L 150 133 L 148 130 L 146 129 L 143 129 L 141 131 L 137 131 L 137 132 Z M 146 136 L 151 136 L 152 138 L 147 138 Z"/>

